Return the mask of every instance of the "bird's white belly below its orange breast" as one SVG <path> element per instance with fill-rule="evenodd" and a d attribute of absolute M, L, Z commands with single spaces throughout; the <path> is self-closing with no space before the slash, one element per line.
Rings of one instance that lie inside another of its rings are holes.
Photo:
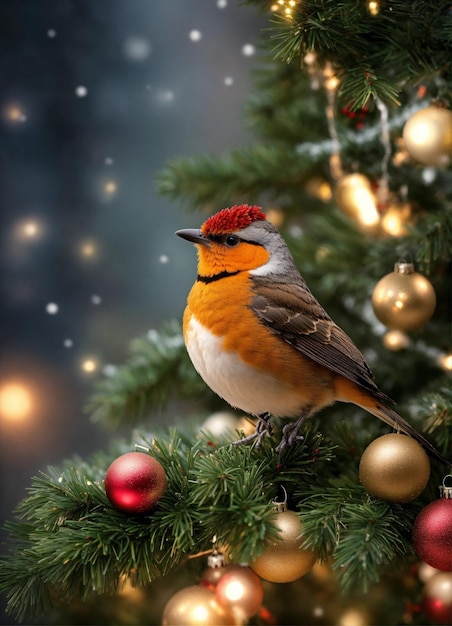
<path fill-rule="evenodd" d="M 187 351 L 204 382 L 231 406 L 251 415 L 297 415 L 300 395 L 274 376 L 247 365 L 235 352 L 226 352 L 217 337 L 192 316 L 185 335 Z"/>

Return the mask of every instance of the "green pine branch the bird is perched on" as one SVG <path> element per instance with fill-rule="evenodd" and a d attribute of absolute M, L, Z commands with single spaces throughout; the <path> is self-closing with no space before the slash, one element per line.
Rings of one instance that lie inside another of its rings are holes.
<path fill-rule="evenodd" d="M 276 438 L 282 425 L 275 425 Z M 328 429 L 327 440 L 335 438 Z M 214 537 L 236 562 L 252 561 L 275 536 L 271 500 L 281 498 L 280 485 L 289 507 L 300 511 L 306 544 L 334 560 L 344 589 L 366 588 L 411 553 L 407 538 L 421 499 L 403 507 L 369 499 L 357 477 L 361 442 L 355 439 L 355 454 L 341 451 L 335 459 L 327 440 L 308 428 L 302 444 L 277 454 L 269 439 L 258 449 L 217 447 L 193 432 L 155 438 L 148 446 L 168 488 L 141 516 L 123 514 L 107 499 L 103 476 L 111 453 L 50 469 L 34 479 L 18 520 L 7 525 L 11 554 L 0 561 L 0 590 L 8 594 L 8 611 L 24 619 L 55 598 L 69 604 L 114 593 L 125 580 L 147 584 L 209 550 Z"/>

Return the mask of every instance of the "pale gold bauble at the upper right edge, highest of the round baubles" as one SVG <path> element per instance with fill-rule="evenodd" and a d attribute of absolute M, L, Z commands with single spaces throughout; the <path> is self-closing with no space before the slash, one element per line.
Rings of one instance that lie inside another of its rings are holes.
<path fill-rule="evenodd" d="M 419 163 L 447 167 L 452 158 L 452 111 L 439 104 L 417 111 L 403 128 L 403 140 Z"/>

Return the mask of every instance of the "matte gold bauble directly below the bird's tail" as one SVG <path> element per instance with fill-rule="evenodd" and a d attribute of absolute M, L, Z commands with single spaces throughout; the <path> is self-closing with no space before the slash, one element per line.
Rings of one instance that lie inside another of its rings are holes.
<path fill-rule="evenodd" d="M 359 479 L 372 496 L 389 502 L 410 502 L 427 485 L 430 461 L 415 439 L 391 433 L 367 446 L 359 464 Z"/>

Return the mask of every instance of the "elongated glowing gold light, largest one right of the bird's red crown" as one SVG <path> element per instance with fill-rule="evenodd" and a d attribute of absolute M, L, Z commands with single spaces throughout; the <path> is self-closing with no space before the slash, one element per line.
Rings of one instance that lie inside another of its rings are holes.
<path fill-rule="evenodd" d="M 336 188 L 336 202 L 349 217 L 362 228 L 375 230 L 380 223 L 377 200 L 370 181 L 363 174 L 348 174 L 341 178 Z"/>

